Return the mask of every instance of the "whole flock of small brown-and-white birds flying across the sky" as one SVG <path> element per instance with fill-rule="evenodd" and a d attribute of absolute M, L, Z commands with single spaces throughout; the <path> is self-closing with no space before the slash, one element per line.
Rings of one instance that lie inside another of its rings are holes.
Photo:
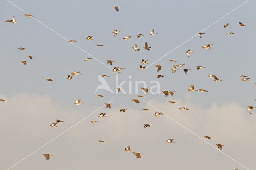
<path fill-rule="evenodd" d="M 120 8 L 120 6 L 114 7 L 114 9 L 115 9 L 117 12 L 119 11 L 119 8 Z M 34 16 L 32 16 L 32 15 L 29 15 L 29 14 L 24 14 L 24 15 L 27 16 L 27 17 L 34 17 Z M 16 18 L 15 18 L 14 16 L 13 16 L 12 20 L 6 20 L 5 22 L 11 22 L 11 23 L 13 23 L 13 24 L 18 23 L 18 22 L 16 21 Z M 239 25 L 239 26 L 242 26 L 242 27 L 246 26 L 246 25 L 244 25 L 242 22 L 239 22 L 238 25 Z M 230 27 L 229 23 L 226 23 L 223 28 L 227 28 L 227 27 Z M 115 36 L 115 37 L 117 36 L 118 32 L 120 32 L 120 31 L 118 31 L 117 29 L 114 29 L 114 32 L 113 32 L 113 33 L 114 33 L 114 36 Z M 151 32 L 150 32 L 150 35 L 153 36 L 153 35 L 156 35 L 156 34 L 158 34 L 158 33 L 154 33 L 154 29 L 152 29 Z M 200 38 L 202 38 L 202 34 L 205 34 L 205 33 L 200 32 L 200 33 L 198 33 L 198 36 L 199 36 Z M 233 33 L 233 32 L 228 32 L 228 33 L 226 33 L 226 34 L 227 34 L 227 35 L 233 35 L 234 33 Z M 140 38 L 141 36 L 144 36 L 144 35 L 142 35 L 142 34 L 137 34 L 136 36 L 137 36 L 137 38 Z M 127 40 L 127 39 L 129 39 L 129 38 L 131 38 L 131 35 L 125 36 L 123 39 L 124 39 L 124 40 Z M 92 39 L 92 36 L 88 36 L 86 39 L 87 39 L 87 40 L 93 40 L 93 39 Z M 70 40 L 69 42 L 73 43 L 73 42 L 76 42 L 76 40 Z M 206 45 L 202 46 L 202 48 L 203 48 L 203 49 L 208 49 L 208 50 L 210 50 L 210 49 L 212 49 L 212 47 L 211 47 L 212 45 L 213 45 L 213 44 L 206 44 Z M 100 46 L 103 46 L 103 45 L 96 44 L 96 46 L 100 47 Z M 148 51 L 150 51 L 150 48 L 151 48 L 151 47 L 148 47 L 148 42 L 145 42 L 145 45 L 144 45 L 143 48 L 146 49 L 146 50 L 148 50 Z M 18 49 L 20 49 L 20 50 L 25 50 L 26 48 L 20 47 L 20 48 L 18 48 Z M 132 47 L 132 49 L 134 49 L 135 51 L 140 51 L 140 49 L 137 47 L 137 44 L 135 44 L 134 47 Z M 192 52 L 193 52 L 193 50 L 191 51 L 190 49 L 188 49 L 188 50 L 186 51 L 187 56 L 190 57 L 190 54 L 191 54 Z M 30 55 L 27 55 L 27 57 L 30 58 L 30 59 L 33 59 L 33 58 L 34 58 L 34 57 L 30 56 Z M 91 57 L 91 58 L 87 58 L 87 59 L 85 59 L 84 61 L 88 61 L 88 60 L 90 60 L 90 59 L 92 59 L 92 57 Z M 112 64 L 114 63 L 114 61 L 112 61 L 112 60 L 106 60 L 106 61 L 107 61 L 107 64 L 110 64 L 110 65 L 112 65 Z M 141 63 L 142 63 L 142 64 L 147 64 L 147 61 L 148 61 L 148 60 L 142 59 Z M 174 61 L 174 60 L 169 60 L 169 61 L 170 61 L 170 62 L 176 62 L 176 61 Z M 24 65 L 26 65 L 28 61 L 21 61 L 21 62 L 22 62 Z M 183 63 L 183 64 L 178 64 L 178 65 L 173 65 L 173 66 L 172 66 L 172 69 L 171 69 L 172 73 L 175 73 L 176 70 L 179 70 L 179 69 L 176 68 L 176 66 L 177 66 L 177 67 L 182 67 L 182 66 L 184 66 L 184 65 L 185 65 L 185 63 Z M 157 71 L 157 72 L 159 72 L 159 71 L 162 69 L 162 67 L 164 67 L 164 66 L 161 66 L 161 65 L 155 65 L 155 66 L 156 66 L 156 71 Z M 141 69 L 141 70 L 146 70 L 145 68 L 146 68 L 146 66 L 140 65 L 140 69 Z M 202 69 L 202 68 L 205 68 L 205 67 L 196 66 L 196 69 L 197 69 L 197 70 Z M 112 70 L 112 72 L 114 72 L 114 73 L 120 73 L 119 71 L 121 71 L 122 69 L 124 69 L 124 68 L 114 67 L 114 69 Z M 185 74 L 187 74 L 189 70 L 190 70 L 190 69 L 183 69 L 183 71 L 185 72 Z M 73 75 L 81 75 L 80 71 L 72 72 L 71 74 L 72 74 L 72 75 L 68 75 L 67 79 L 69 79 L 69 80 L 73 79 L 73 78 L 72 78 Z M 107 75 L 101 75 L 101 76 L 102 76 L 102 77 L 109 77 L 109 76 L 107 76 Z M 213 75 L 207 75 L 207 76 L 208 76 L 209 78 L 214 78 L 214 81 L 222 81 L 222 80 L 220 80 L 218 77 L 216 77 L 216 75 L 214 75 L 214 74 L 213 74 Z M 158 76 L 156 76 L 156 78 L 160 78 L 160 77 L 164 77 L 164 76 L 163 76 L 163 75 L 158 75 Z M 249 80 L 250 78 L 248 78 L 248 77 L 245 76 L 245 75 L 240 75 L 240 77 L 242 77 L 242 79 L 241 79 L 242 81 L 245 81 L 245 82 L 246 82 L 246 81 L 250 81 L 250 80 Z M 48 79 L 48 78 L 47 78 L 46 80 L 47 80 L 47 81 L 54 81 L 53 79 Z M 256 83 L 255 83 L 255 84 L 256 84 Z M 143 93 L 144 93 L 145 95 L 147 95 L 149 89 L 143 88 L 143 87 L 141 87 L 141 89 L 142 89 Z M 119 91 L 120 91 L 120 88 L 119 88 L 119 87 L 116 87 L 116 90 L 119 92 Z M 208 92 L 207 90 L 204 90 L 204 89 L 195 90 L 193 84 L 190 86 L 190 88 L 188 89 L 188 91 Z M 165 97 L 167 97 L 168 95 L 173 96 L 173 95 L 174 95 L 174 92 L 175 92 L 175 91 L 162 91 L 162 93 L 164 93 L 164 96 L 165 96 Z M 102 95 L 97 95 L 97 96 L 100 97 L 100 98 L 104 97 L 104 96 L 102 96 Z M 144 97 L 144 96 L 138 95 L 137 97 L 141 98 L 141 97 Z M 256 99 L 255 99 L 255 100 L 256 100 Z M 7 101 L 7 100 L 0 99 L 0 101 L 3 102 L 3 101 Z M 80 101 L 81 101 L 81 99 L 77 99 L 77 100 L 74 102 L 74 104 L 75 104 L 75 105 L 82 105 L 83 103 L 80 103 Z M 136 104 L 140 103 L 140 100 L 138 100 L 138 99 L 132 99 L 132 101 L 134 101 L 134 103 L 136 103 Z M 168 101 L 168 102 L 169 102 L 169 103 L 176 103 L 176 102 L 174 102 L 174 101 Z M 105 103 L 105 105 L 106 105 L 106 108 L 110 108 L 110 109 L 111 109 L 111 104 Z M 256 108 L 256 107 L 247 106 L 247 108 L 248 108 L 249 113 L 252 114 L 252 109 L 254 109 L 254 108 Z M 189 110 L 189 109 L 186 108 L 186 107 L 180 107 L 179 109 L 180 109 L 180 110 L 183 110 L 183 111 Z M 125 112 L 127 109 L 123 109 L 123 108 L 122 108 L 122 109 L 119 109 L 119 110 L 120 110 L 120 112 Z M 149 111 L 149 109 L 146 109 L 146 108 L 144 108 L 144 109 L 142 109 L 142 110 L 144 110 L 144 111 Z M 100 115 L 99 115 L 98 117 L 100 117 L 100 118 L 107 117 L 107 116 L 105 116 L 105 115 L 106 115 L 106 113 L 100 113 Z M 157 117 L 157 116 L 160 116 L 160 115 L 164 115 L 164 114 L 163 114 L 162 112 L 154 112 L 154 116 Z M 57 127 L 56 125 L 57 125 L 58 123 L 60 123 L 60 122 L 63 122 L 63 121 L 56 119 L 56 123 L 52 123 L 50 126 L 51 126 L 51 127 Z M 98 121 L 91 121 L 91 122 L 92 122 L 92 123 L 97 123 Z M 152 126 L 152 125 L 144 124 L 144 128 L 150 127 L 150 126 Z M 204 137 L 207 138 L 207 139 L 211 139 L 210 136 L 204 136 Z M 101 142 L 101 143 L 104 143 L 103 140 L 98 140 L 98 141 Z M 174 141 L 174 139 L 168 139 L 168 140 L 166 140 L 167 143 L 175 143 L 175 142 L 173 142 L 173 141 Z M 222 150 L 222 146 L 224 146 L 224 145 L 222 145 L 222 144 L 216 144 L 216 145 L 217 145 L 217 147 L 218 147 L 220 150 Z M 130 150 L 130 146 L 129 146 L 129 145 L 124 149 L 124 151 L 126 151 L 126 152 L 132 152 L 132 153 L 136 156 L 136 158 L 141 158 L 141 154 L 142 154 L 142 153 L 133 152 L 133 150 Z M 52 156 L 51 154 L 43 154 L 43 155 L 44 155 L 44 157 L 46 158 L 46 160 L 50 159 L 50 156 Z M 237 170 L 237 169 L 236 169 L 236 170 Z"/>

